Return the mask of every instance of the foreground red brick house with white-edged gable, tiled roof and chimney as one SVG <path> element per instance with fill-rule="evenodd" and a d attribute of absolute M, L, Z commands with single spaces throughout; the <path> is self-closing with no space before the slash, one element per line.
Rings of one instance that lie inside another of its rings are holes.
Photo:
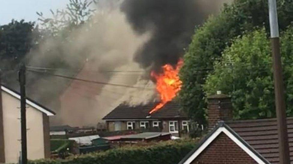
<path fill-rule="evenodd" d="M 279 163 L 276 119 L 232 120 L 231 98 L 208 98 L 210 132 L 180 164 Z M 287 118 L 290 152 L 293 151 L 293 117 Z M 293 163 L 293 153 L 290 153 Z"/>

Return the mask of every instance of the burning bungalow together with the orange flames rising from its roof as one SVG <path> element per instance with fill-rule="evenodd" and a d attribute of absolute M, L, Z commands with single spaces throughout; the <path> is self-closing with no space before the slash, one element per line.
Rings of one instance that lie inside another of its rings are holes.
<path fill-rule="evenodd" d="M 144 128 L 170 133 L 181 130 L 188 132 L 188 116 L 180 111 L 179 104 L 173 100 L 181 89 L 182 82 L 178 72 L 182 65 L 183 60 L 180 59 L 176 67 L 166 64 L 162 66 L 162 73 L 152 71 L 151 76 L 156 79 L 156 89 L 161 101 L 136 106 L 120 104 L 103 118 L 108 131 Z"/>

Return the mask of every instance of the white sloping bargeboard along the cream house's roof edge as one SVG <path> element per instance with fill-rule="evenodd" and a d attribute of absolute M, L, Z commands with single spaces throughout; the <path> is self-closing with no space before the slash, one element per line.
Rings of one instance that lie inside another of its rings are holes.
<path fill-rule="evenodd" d="M 10 94 L 11 96 L 20 99 L 20 93 L 5 86 L 5 85 L 1 85 L 1 90 Z M 54 116 L 56 113 L 54 111 L 51 111 L 50 109 L 48 109 L 47 107 L 39 104 L 38 102 L 26 97 L 26 103 L 28 105 L 31 105 L 32 107 L 36 108 L 37 110 L 43 112 L 44 114 L 46 114 L 47 116 Z"/>

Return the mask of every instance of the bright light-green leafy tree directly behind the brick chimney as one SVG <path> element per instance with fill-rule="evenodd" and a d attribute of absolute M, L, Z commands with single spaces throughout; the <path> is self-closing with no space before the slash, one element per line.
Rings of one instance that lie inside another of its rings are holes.
<path fill-rule="evenodd" d="M 289 27 L 281 38 L 286 93 L 293 92 L 292 61 L 293 28 Z M 214 72 L 206 80 L 204 90 L 214 94 L 217 90 L 231 95 L 235 119 L 275 117 L 274 86 L 270 40 L 265 30 L 237 38 L 227 47 Z M 292 96 L 288 94 L 287 113 L 292 115 Z"/>

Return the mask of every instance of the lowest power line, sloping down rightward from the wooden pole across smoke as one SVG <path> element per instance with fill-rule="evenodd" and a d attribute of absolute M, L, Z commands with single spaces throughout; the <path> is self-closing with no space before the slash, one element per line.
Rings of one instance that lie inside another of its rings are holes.
<path fill-rule="evenodd" d="M 57 77 L 62 77 L 62 78 L 72 79 L 72 80 L 78 80 L 78 81 L 83 81 L 83 82 L 90 82 L 90 83 L 95 83 L 95 84 L 112 85 L 112 86 L 117 86 L 117 87 L 127 87 L 127 88 L 137 88 L 137 89 L 152 89 L 152 88 L 144 88 L 144 87 L 135 87 L 135 86 L 131 86 L 131 85 L 112 84 L 112 83 L 107 83 L 107 82 L 98 82 L 98 81 L 93 81 L 93 80 L 74 78 L 74 77 L 69 77 L 69 76 L 63 76 L 63 75 L 57 75 L 57 74 L 53 74 L 53 73 L 48 73 L 46 71 L 38 71 L 38 70 L 31 70 L 31 69 L 28 69 L 28 71 L 36 72 L 36 73 L 45 73 L 45 74 L 48 74 L 48 75 L 51 75 L 51 76 L 57 76 Z"/>

